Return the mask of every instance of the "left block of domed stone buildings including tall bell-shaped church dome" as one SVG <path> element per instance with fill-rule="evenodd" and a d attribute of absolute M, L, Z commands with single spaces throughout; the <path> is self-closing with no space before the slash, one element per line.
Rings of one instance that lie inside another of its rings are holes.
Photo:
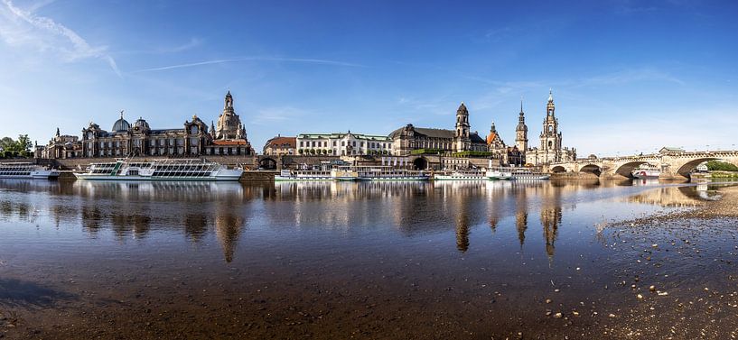
<path fill-rule="evenodd" d="M 143 117 L 134 124 L 120 118 L 110 131 L 90 122 L 82 129 L 80 140 L 66 142 L 65 148 L 79 149 L 73 157 L 197 157 L 203 155 L 250 155 L 253 154 L 246 131 L 233 109 L 233 97 L 226 95 L 223 113 L 218 119 L 218 128 L 208 128 L 197 115 L 186 120 L 182 129 L 152 129 Z M 43 156 L 60 158 L 60 142 L 57 136 L 44 147 Z M 69 145 L 71 144 L 71 145 Z M 67 154 L 66 157 L 70 157 Z"/>

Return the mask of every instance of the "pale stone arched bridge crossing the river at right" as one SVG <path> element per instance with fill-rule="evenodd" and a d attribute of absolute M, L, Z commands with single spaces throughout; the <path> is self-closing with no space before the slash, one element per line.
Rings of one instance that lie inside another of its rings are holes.
<path fill-rule="evenodd" d="M 631 177 L 631 172 L 641 164 L 655 165 L 661 174 L 659 179 L 689 179 L 689 174 L 704 161 L 727 161 L 738 165 L 738 151 L 712 152 L 664 152 L 640 156 L 610 157 L 551 163 L 544 170 L 551 173 L 589 172 L 604 179 Z"/>

